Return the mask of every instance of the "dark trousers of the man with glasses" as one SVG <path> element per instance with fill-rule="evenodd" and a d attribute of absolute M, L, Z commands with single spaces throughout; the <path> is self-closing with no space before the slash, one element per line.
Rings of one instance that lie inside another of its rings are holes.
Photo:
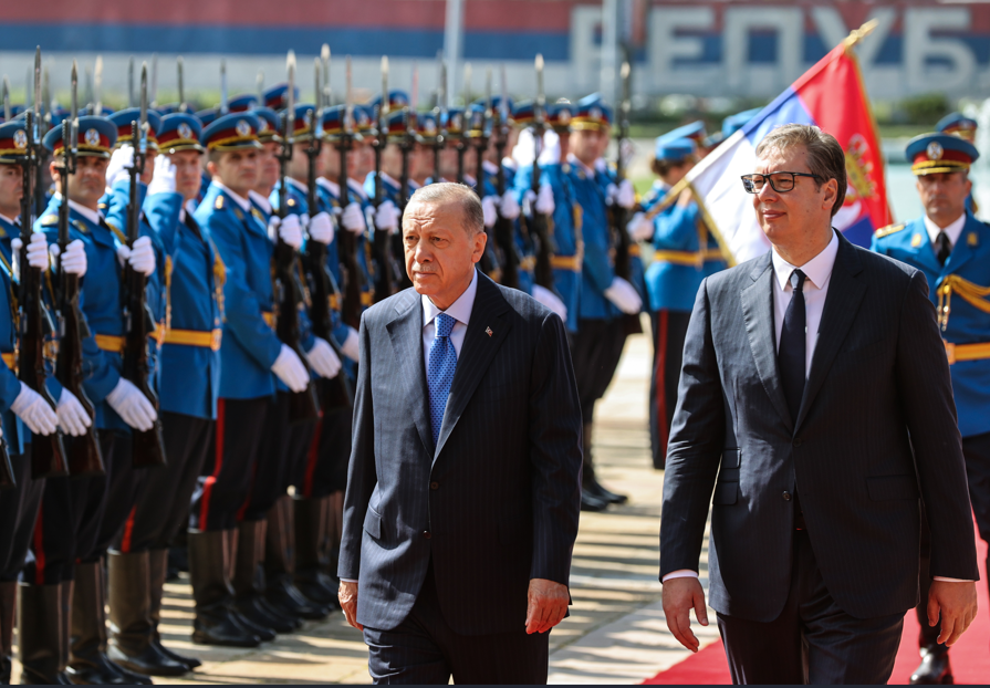
<path fill-rule="evenodd" d="M 733 684 L 886 684 L 904 615 L 855 618 L 822 580 L 807 531 L 794 531 L 791 590 L 770 623 L 718 615 Z"/>

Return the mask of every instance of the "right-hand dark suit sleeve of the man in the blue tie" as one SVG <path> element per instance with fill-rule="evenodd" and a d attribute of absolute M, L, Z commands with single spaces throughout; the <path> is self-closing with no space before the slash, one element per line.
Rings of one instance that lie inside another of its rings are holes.
<path fill-rule="evenodd" d="M 533 560 L 530 578 L 569 584 L 581 511 L 581 404 L 561 319 L 543 321 L 530 385 Z"/>

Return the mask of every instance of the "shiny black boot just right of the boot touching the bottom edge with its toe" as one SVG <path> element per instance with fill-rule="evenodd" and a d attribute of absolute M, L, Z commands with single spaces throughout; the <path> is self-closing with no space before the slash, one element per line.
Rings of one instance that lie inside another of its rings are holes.
<path fill-rule="evenodd" d="M 183 676 L 189 671 L 158 650 L 153 640 L 148 552 L 111 552 L 110 645 L 107 657 L 128 671 L 144 676 Z"/>

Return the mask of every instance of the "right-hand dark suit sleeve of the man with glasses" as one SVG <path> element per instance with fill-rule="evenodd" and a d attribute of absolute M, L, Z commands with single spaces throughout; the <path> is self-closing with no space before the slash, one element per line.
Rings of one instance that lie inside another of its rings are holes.
<path fill-rule="evenodd" d="M 952 382 L 921 272 L 911 275 L 902 305 L 896 376 L 931 531 L 930 575 L 978 581 Z"/>

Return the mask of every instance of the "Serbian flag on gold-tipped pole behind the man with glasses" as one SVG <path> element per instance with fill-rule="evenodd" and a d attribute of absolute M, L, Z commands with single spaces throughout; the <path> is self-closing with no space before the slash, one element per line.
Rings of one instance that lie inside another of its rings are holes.
<path fill-rule="evenodd" d="M 770 250 L 757 223 L 752 196 L 741 175 L 755 169 L 757 145 L 774 127 L 811 124 L 832 134 L 845 150 L 848 190 L 832 225 L 853 243 L 868 247 L 874 230 L 893 220 L 887 206 L 884 157 L 853 45 L 872 27 L 854 31 L 770 105 L 701 160 L 684 185 L 730 263 Z M 676 200 L 673 189 L 668 198 Z"/>

